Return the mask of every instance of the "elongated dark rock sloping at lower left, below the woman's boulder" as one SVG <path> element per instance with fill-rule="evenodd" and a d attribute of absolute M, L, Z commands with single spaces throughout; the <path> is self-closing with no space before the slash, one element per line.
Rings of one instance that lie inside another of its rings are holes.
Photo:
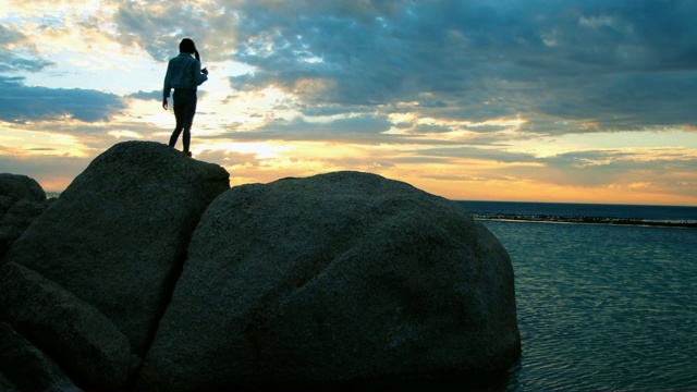
<path fill-rule="evenodd" d="M 99 388 L 125 384 L 135 365 L 131 345 L 99 310 L 12 261 L 0 266 L 0 319 L 48 351 L 76 380 Z"/>

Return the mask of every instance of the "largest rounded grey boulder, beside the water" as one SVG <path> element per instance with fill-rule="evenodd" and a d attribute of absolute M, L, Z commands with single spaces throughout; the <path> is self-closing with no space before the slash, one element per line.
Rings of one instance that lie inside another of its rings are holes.
<path fill-rule="evenodd" d="M 194 232 L 136 385 L 467 380 L 519 356 L 513 279 L 484 225 L 405 183 L 233 187 Z"/>

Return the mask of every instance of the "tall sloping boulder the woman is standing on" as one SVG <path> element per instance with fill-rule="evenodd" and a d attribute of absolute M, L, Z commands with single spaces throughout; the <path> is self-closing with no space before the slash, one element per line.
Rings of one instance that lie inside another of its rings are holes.
<path fill-rule="evenodd" d="M 229 188 L 229 174 L 217 164 L 163 144 L 120 143 L 73 181 L 3 261 L 94 306 L 143 356 L 200 215 Z"/>

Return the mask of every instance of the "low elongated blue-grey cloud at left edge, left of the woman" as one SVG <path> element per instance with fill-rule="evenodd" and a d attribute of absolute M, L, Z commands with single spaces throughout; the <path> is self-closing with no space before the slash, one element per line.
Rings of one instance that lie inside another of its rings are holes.
<path fill-rule="evenodd" d="M 0 120 L 22 122 L 73 118 L 84 122 L 107 121 L 125 109 L 113 94 L 80 88 L 25 86 L 23 77 L 0 75 Z"/>

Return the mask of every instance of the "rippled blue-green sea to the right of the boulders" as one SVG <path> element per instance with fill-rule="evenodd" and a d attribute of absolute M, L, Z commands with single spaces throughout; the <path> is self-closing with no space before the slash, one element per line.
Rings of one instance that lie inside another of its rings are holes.
<path fill-rule="evenodd" d="M 697 207 L 457 203 L 511 256 L 508 390 L 697 390 Z"/>

